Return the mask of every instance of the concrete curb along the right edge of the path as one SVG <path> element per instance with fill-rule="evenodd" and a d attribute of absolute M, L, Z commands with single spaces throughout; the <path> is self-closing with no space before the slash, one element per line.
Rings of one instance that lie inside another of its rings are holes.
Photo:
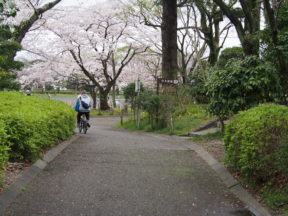
<path fill-rule="evenodd" d="M 187 142 L 185 142 L 187 145 Z M 230 191 L 238 197 L 255 216 L 272 216 L 241 184 L 230 174 L 224 165 L 214 159 L 201 146 L 189 143 L 188 148 L 195 151 L 217 173 Z"/>

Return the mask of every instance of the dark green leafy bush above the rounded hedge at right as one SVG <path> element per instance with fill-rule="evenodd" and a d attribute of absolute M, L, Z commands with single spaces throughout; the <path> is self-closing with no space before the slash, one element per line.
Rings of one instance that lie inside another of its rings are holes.
<path fill-rule="evenodd" d="M 255 56 L 229 61 L 224 70 L 214 70 L 207 83 L 209 113 L 225 118 L 280 96 L 280 80 L 269 62 Z"/>

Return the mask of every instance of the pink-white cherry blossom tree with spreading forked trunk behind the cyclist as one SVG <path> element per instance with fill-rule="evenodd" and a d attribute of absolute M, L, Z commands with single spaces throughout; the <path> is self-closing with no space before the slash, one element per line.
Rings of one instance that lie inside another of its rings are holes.
<path fill-rule="evenodd" d="M 72 60 L 71 65 L 77 66 L 98 88 L 100 108 L 108 109 L 107 98 L 111 88 L 129 62 L 137 54 L 145 52 L 147 47 L 142 47 L 130 36 L 134 34 L 135 38 L 133 23 L 120 19 L 108 9 L 105 14 L 90 8 L 85 9 L 85 13 L 74 11 L 70 16 L 59 17 L 60 20 L 45 23 L 46 30 L 43 31 L 49 30 L 54 37 L 50 40 L 54 50 L 46 57 L 54 61 L 70 60 L 70 64 Z M 59 21 L 62 26 L 55 28 Z"/>

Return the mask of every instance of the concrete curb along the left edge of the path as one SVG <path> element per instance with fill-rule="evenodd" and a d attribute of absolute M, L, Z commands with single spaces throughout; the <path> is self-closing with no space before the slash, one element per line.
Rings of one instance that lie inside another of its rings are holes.
<path fill-rule="evenodd" d="M 15 198 L 26 190 L 27 185 L 51 162 L 53 161 L 67 146 L 78 140 L 80 136 L 74 135 L 51 150 L 49 150 L 41 159 L 38 159 L 31 167 L 23 171 L 17 180 L 6 188 L 0 195 L 0 215 L 4 213 L 7 207 L 15 200 Z"/>

